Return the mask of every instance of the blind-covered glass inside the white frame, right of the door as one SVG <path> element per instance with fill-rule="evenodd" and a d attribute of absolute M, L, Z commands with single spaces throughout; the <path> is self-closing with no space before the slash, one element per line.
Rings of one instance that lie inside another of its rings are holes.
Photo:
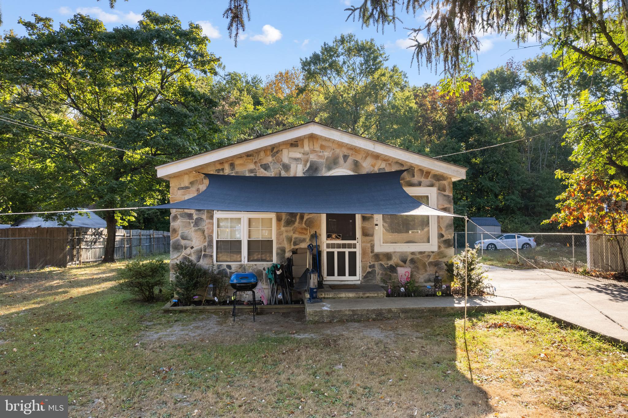
<path fill-rule="evenodd" d="M 430 205 L 430 196 L 413 195 Z M 427 215 L 382 215 L 382 244 L 430 244 L 430 217 Z"/>

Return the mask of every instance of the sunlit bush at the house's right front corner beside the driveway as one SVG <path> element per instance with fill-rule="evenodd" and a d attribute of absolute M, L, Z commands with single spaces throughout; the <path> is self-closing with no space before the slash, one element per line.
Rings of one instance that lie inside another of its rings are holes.
<path fill-rule="evenodd" d="M 465 294 L 465 260 L 467 267 L 467 296 L 484 294 L 484 281 L 487 279 L 487 268 L 480 264 L 477 249 L 468 248 L 460 254 L 454 255 L 448 262 L 447 273 L 453 277 L 452 294 L 463 296 Z"/>

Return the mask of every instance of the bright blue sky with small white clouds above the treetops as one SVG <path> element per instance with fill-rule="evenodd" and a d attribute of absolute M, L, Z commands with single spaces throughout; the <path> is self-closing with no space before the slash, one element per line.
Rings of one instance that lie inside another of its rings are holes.
<path fill-rule="evenodd" d="M 222 58 L 226 70 L 266 75 L 279 70 L 299 65 L 299 58 L 309 56 L 320 49 L 323 42 L 332 41 L 340 33 L 355 33 L 359 38 L 374 38 L 377 43 L 386 46 L 390 56 L 388 65 L 398 65 L 408 74 L 409 82 L 422 85 L 435 83 L 441 77 L 433 70 L 417 63 L 412 67 L 411 50 L 406 50 L 407 31 L 403 26 L 416 26 L 418 19 L 402 15 L 403 24 L 398 24 L 396 31 L 387 27 L 384 33 L 375 28 L 360 28 L 359 23 L 351 19 L 345 21 L 347 3 L 358 0 L 250 0 L 251 21 L 247 24 L 246 38 L 239 41 L 237 48 L 227 34 L 227 23 L 222 18 L 222 11 L 227 0 L 119 0 L 116 9 L 109 9 L 107 0 L 27 0 L 4 1 L 2 4 L 3 30 L 14 29 L 19 35 L 24 34 L 17 23 L 19 17 L 30 18 L 38 13 L 55 19 L 55 22 L 67 20 L 76 11 L 82 11 L 99 18 L 107 28 L 121 24 L 134 25 L 141 18 L 141 13 L 152 9 L 158 13 L 174 14 L 185 24 L 189 21 L 200 23 L 205 34 L 210 37 L 210 50 Z M 511 50 L 517 45 L 509 39 L 488 35 L 481 38 L 482 50 L 475 62 L 475 73 L 506 63 L 514 57 L 517 61 L 526 60 L 541 53 L 541 48 Z M 528 45 L 536 45 L 531 42 Z M 511 50 L 511 51 L 509 51 Z M 422 63 L 421 63 L 422 64 Z"/>

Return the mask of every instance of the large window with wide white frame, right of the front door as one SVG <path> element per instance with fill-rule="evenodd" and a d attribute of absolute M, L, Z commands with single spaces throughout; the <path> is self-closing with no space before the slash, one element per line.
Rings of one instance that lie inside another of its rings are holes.
<path fill-rule="evenodd" d="M 406 192 L 428 206 L 436 206 L 435 187 L 407 187 Z M 375 250 L 435 251 L 438 249 L 435 216 L 375 215 Z"/>

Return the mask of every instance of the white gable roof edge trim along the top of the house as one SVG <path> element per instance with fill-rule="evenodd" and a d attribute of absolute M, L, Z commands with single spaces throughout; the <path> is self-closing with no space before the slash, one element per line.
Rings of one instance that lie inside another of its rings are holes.
<path fill-rule="evenodd" d="M 212 151 L 202 154 L 193 155 L 191 157 L 178 159 L 171 163 L 156 166 L 157 176 L 159 178 L 169 178 L 177 173 L 189 171 L 214 161 L 230 158 L 239 154 L 250 153 L 257 149 L 272 146 L 279 142 L 290 141 L 296 137 L 315 134 L 322 137 L 333 139 L 334 141 L 344 142 L 347 145 L 368 149 L 374 153 L 384 154 L 408 163 L 423 166 L 425 168 L 447 174 L 452 177 L 453 181 L 461 180 L 466 177 L 467 168 L 458 164 L 447 163 L 440 159 L 428 157 L 423 154 L 414 153 L 400 147 L 396 147 L 384 142 L 375 141 L 363 136 L 350 134 L 330 126 L 320 124 L 318 122 L 307 122 L 295 127 L 284 129 L 283 131 L 273 132 L 264 136 L 259 136 L 246 141 L 236 142 Z"/>

